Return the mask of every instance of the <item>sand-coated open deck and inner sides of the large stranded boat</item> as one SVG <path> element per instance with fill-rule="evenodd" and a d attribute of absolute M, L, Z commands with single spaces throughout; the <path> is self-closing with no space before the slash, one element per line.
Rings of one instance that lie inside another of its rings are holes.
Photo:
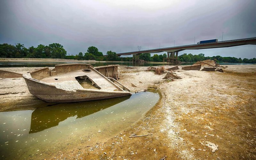
<path fill-rule="evenodd" d="M 52 70 L 48 67 L 30 72 L 32 79 L 53 84 L 66 91 L 94 89 L 102 91 L 124 91 L 108 77 L 103 76 L 90 64 L 61 64 Z"/>

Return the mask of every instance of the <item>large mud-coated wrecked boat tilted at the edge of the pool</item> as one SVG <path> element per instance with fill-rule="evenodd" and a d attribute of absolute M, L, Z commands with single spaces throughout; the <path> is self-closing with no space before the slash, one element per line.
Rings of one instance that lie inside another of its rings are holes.
<path fill-rule="evenodd" d="M 60 64 L 24 74 L 29 92 L 46 102 L 65 103 L 131 95 L 90 64 Z M 118 82 L 123 88 L 127 88 Z M 127 89 L 129 90 L 129 89 Z"/>

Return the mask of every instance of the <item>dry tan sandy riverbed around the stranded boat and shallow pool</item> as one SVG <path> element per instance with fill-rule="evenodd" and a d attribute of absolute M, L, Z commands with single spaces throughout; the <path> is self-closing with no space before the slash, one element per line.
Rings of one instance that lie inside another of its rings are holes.
<path fill-rule="evenodd" d="M 227 66 L 226 70 L 236 72 L 179 69 L 175 72 L 182 79 L 172 82 L 163 81 L 165 74 L 145 71 L 147 67 L 122 70 L 119 81 L 132 92 L 161 87 L 162 98 L 156 106 L 93 151 L 81 144 L 37 158 L 256 159 L 256 65 Z M 35 68 L 1 69 L 26 73 Z M 1 110 L 41 103 L 28 92 L 22 78 L 0 79 L 0 86 Z M 128 138 L 134 133 L 148 136 Z"/>

